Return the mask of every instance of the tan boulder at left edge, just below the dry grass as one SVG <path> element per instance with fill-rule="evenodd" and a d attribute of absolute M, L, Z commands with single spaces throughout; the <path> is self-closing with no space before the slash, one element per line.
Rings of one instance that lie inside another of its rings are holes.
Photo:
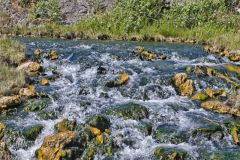
<path fill-rule="evenodd" d="M 0 98 L 0 111 L 21 104 L 20 96 L 5 96 Z"/>

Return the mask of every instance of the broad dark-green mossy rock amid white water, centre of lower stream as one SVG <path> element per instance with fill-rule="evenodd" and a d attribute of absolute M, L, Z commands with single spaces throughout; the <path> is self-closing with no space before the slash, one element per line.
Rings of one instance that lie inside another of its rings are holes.
<path fill-rule="evenodd" d="M 145 106 L 136 103 L 128 103 L 107 112 L 110 115 L 116 115 L 124 119 L 141 120 L 148 118 L 149 111 Z"/>

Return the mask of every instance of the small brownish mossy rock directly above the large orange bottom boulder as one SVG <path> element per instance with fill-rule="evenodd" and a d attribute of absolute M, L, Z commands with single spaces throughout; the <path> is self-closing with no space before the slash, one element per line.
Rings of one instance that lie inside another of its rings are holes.
<path fill-rule="evenodd" d="M 76 128 L 76 125 L 77 125 L 76 121 L 63 119 L 61 122 L 55 125 L 55 128 L 57 129 L 58 132 L 73 131 Z"/>

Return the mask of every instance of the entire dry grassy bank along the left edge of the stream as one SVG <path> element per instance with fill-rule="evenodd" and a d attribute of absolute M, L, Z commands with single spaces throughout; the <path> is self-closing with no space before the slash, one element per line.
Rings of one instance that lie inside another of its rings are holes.
<path fill-rule="evenodd" d="M 25 58 L 25 48 L 16 41 L 0 38 L 0 95 L 11 94 L 13 88 L 25 84 L 24 71 L 16 65 Z"/>

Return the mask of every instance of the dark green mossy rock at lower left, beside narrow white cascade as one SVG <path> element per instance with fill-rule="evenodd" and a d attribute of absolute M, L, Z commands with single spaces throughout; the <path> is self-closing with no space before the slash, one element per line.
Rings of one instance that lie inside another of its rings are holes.
<path fill-rule="evenodd" d="M 31 141 L 34 141 L 38 135 L 42 132 L 44 126 L 41 124 L 37 124 L 35 126 L 28 127 L 23 130 L 23 136 Z"/>

